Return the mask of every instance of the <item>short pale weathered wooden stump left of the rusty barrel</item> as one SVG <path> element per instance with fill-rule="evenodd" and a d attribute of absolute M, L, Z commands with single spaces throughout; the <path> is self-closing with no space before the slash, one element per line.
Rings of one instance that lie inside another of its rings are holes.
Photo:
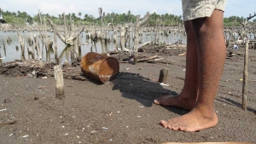
<path fill-rule="evenodd" d="M 55 70 L 55 98 L 65 98 L 64 95 L 64 80 L 60 65 L 54 66 Z"/>

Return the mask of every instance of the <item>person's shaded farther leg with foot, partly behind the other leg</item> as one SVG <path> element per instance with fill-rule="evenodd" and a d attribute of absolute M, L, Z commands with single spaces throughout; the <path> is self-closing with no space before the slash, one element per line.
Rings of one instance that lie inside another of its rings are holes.
<path fill-rule="evenodd" d="M 192 110 L 195 107 L 198 91 L 198 61 L 195 33 L 191 20 L 185 21 L 185 30 L 187 33 L 187 55 L 186 55 L 186 73 L 182 92 L 177 95 L 167 95 L 154 100 L 155 104 L 163 106 L 182 107 Z"/>

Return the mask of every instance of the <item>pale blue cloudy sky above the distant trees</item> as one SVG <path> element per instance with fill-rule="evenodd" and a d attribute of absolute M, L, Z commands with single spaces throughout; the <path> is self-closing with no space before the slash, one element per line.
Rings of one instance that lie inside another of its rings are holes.
<path fill-rule="evenodd" d="M 99 17 L 98 8 L 102 8 L 105 14 L 117 13 L 140 14 L 141 17 L 147 12 L 156 14 L 182 15 L 182 0 L 0 0 L 0 8 L 10 12 L 26 12 L 31 16 L 41 13 L 58 16 L 58 14 L 81 12 L 91 14 L 95 18 Z M 247 17 L 256 12 L 255 0 L 227 0 L 224 17 L 236 15 Z M 254 18 L 255 19 L 255 18 Z"/>

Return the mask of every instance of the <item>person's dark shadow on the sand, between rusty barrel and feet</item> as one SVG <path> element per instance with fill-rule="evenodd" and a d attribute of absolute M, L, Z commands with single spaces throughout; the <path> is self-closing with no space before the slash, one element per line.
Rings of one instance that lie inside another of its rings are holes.
<path fill-rule="evenodd" d="M 149 78 L 144 78 L 136 73 L 119 72 L 117 78 L 111 81 L 113 90 L 119 90 L 122 96 L 140 102 L 144 107 L 152 107 L 153 101 L 163 95 L 177 95 L 177 92 L 170 89 L 164 89 L 158 82 L 154 82 Z M 161 106 L 163 107 L 163 106 Z M 170 112 L 183 115 L 182 108 L 165 107 Z"/>

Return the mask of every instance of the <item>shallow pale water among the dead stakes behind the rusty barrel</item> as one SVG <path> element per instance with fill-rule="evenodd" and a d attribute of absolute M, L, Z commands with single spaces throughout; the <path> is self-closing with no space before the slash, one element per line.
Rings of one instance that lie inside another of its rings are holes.
<path fill-rule="evenodd" d="M 32 35 L 37 34 L 38 32 L 32 32 Z M 48 32 L 49 34 L 49 38 L 51 39 L 51 41 L 54 41 L 53 39 L 53 33 L 52 32 Z M 108 52 L 108 51 L 112 51 L 115 48 L 115 45 L 117 45 L 119 47 L 119 44 L 115 44 L 113 43 L 113 41 L 111 41 L 110 43 L 102 43 L 102 42 L 96 42 L 96 43 L 92 43 L 90 41 L 90 39 L 86 39 L 85 37 L 86 33 L 83 32 L 81 34 L 81 43 L 87 43 L 84 45 L 81 45 L 81 53 L 79 55 L 84 56 L 86 55 L 88 52 L 93 51 L 93 52 L 97 52 L 97 53 L 103 53 L 103 52 Z M 20 49 L 20 42 L 18 39 L 18 35 L 17 32 L 0 32 L 0 55 L 2 56 L 2 62 L 9 62 L 9 61 L 13 61 L 13 60 L 27 60 L 27 59 L 31 59 L 32 56 L 28 55 L 28 50 L 32 51 L 35 54 L 35 59 L 39 60 L 38 55 L 37 55 L 37 51 L 34 48 L 34 45 L 30 45 L 27 42 L 28 37 L 31 36 L 30 32 L 20 32 L 20 36 L 21 37 L 25 37 L 25 55 L 22 56 L 21 55 L 21 49 Z M 132 36 L 132 33 L 131 33 Z M 10 39 L 12 40 L 11 43 L 7 43 L 7 38 L 10 37 Z M 110 39 L 113 39 L 113 37 L 109 37 Z M 165 40 L 166 43 L 173 43 L 173 42 L 177 42 L 177 40 L 179 39 L 179 34 L 177 33 L 177 37 L 172 37 L 172 33 L 168 36 L 168 37 L 160 37 L 160 40 Z M 146 35 L 145 33 L 143 33 L 143 36 L 140 37 L 139 39 L 142 39 L 143 43 L 146 42 L 150 42 L 152 40 L 154 40 L 154 33 L 152 33 L 151 35 Z M 185 43 L 185 36 L 181 36 L 181 39 L 183 41 L 183 43 Z M 119 42 L 117 42 L 119 43 Z M 4 45 L 4 46 L 3 46 Z M 131 47 L 133 46 L 133 43 L 130 43 L 130 45 L 128 45 L 127 47 Z M 5 47 L 5 49 L 4 49 Z M 42 60 L 44 61 L 49 61 L 51 59 L 55 58 L 54 55 L 54 47 L 55 47 L 55 43 L 53 44 L 53 49 L 49 49 L 49 53 L 46 53 L 46 50 L 43 46 L 42 41 L 39 39 L 39 48 L 40 51 L 42 53 Z M 62 43 L 62 41 L 59 39 L 59 37 L 57 38 L 57 48 L 58 48 L 58 55 L 59 55 L 59 59 L 60 62 L 64 62 L 65 60 L 67 61 L 71 61 L 70 59 L 70 54 L 73 51 L 73 47 L 71 48 L 66 48 L 65 43 Z"/>

